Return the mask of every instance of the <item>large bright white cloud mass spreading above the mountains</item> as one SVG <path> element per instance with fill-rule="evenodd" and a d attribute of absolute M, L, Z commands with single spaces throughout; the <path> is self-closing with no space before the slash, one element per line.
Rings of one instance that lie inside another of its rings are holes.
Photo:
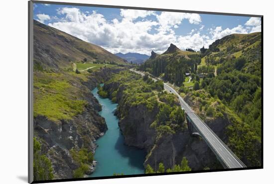
<path fill-rule="evenodd" d="M 57 13 L 61 18 L 54 18 L 49 26 L 76 36 L 84 41 L 99 45 L 112 53 L 137 52 L 150 54 L 151 50 L 162 53 L 170 43 L 180 49 L 191 48 L 199 50 L 208 48 L 216 39 L 233 33 L 250 33 L 259 30 L 258 20 L 250 19 L 246 25 L 233 28 L 222 26 L 212 27 L 207 33 L 201 33 L 204 25 L 196 13 L 161 12 L 133 9 L 120 9 L 121 19 L 107 20 L 97 11 L 82 12 L 76 7 L 59 8 Z M 152 15 L 154 18 L 146 19 Z M 44 22 L 50 17 L 45 14 L 37 15 L 39 21 Z M 183 35 L 176 35 L 174 29 L 183 21 L 190 24 L 200 24 L 199 27 Z"/>

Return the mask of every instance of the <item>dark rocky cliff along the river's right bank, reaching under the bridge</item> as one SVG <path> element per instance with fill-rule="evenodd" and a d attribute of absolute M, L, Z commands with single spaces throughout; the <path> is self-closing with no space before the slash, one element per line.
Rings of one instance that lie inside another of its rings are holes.
<path fill-rule="evenodd" d="M 150 125 L 155 120 L 159 109 L 154 108 L 149 111 L 143 104 L 125 104 L 123 92 L 126 87 L 120 85 L 119 82 L 105 84 L 104 90 L 109 93 L 117 91 L 119 106 L 116 114 L 120 118 L 119 126 L 125 136 L 125 144 L 146 151 L 144 166 L 149 164 L 157 170 L 159 163 L 163 163 L 166 169 L 173 168 L 175 164 L 180 164 L 183 157 L 186 157 L 192 170 L 203 170 L 205 167 L 222 168 L 207 144 L 199 137 L 190 136 L 186 124 L 184 131 L 157 138 L 155 128 Z M 124 113 L 125 111 L 127 113 Z"/>

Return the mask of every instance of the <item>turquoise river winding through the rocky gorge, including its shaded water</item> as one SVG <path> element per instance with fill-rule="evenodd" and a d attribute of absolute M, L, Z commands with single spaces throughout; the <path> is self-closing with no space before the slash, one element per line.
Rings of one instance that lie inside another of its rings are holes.
<path fill-rule="evenodd" d="M 98 147 L 94 159 L 97 165 L 90 177 L 143 174 L 145 153 L 143 150 L 124 144 L 124 136 L 118 125 L 119 119 L 114 115 L 118 104 L 113 103 L 109 98 L 100 97 L 97 92 L 97 88 L 92 91 L 102 105 L 102 111 L 99 114 L 105 118 L 108 130 L 105 135 L 96 140 Z"/>

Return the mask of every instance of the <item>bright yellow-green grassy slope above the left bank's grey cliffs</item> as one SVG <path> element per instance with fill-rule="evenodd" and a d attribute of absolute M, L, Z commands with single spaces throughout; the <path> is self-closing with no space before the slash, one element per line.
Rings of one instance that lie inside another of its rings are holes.
<path fill-rule="evenodd" d="M 84 81 L 87 81 L 85 75 L 74 72 L 35 72 L 34 117 L 43 115 L 52 121 L 59 121 L 72 119 L 81 113 L 87 102 L 77 86 L 81 86 Z"/>

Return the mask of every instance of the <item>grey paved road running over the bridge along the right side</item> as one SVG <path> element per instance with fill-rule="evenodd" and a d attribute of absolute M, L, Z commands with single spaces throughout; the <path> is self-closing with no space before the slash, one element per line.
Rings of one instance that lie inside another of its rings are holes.
<path fill-rule="evenodd" d="M 131 69 L 131 71 L 144 76 L 142 72 L 135 71 L 133 69 Z M 153 81 L 157 81 L 154 78 L 152 79 Z M 187 116 L 192 120 L 192 124 L 195 126 L 199 134 L 202 136 L 202 138 L 205 140 L 205 142 L 208 144 L 211 150 L 215 153 L 215 155 L 225 168 L 246 167 L 241 162 L 241 160 L 237 158 L 237 156 L 234 155 L 234 153 L 225 145 L 225 143 L 223 143 L 223 141 L 198 117 L 198 115 L 196 115 L 196 113 L 191 109 L 191 107 L 173 88 L 171 88 L 168 84 L 164 83 L 164 89 L 178 96 L 181 106 L 185 110 Z"/>

